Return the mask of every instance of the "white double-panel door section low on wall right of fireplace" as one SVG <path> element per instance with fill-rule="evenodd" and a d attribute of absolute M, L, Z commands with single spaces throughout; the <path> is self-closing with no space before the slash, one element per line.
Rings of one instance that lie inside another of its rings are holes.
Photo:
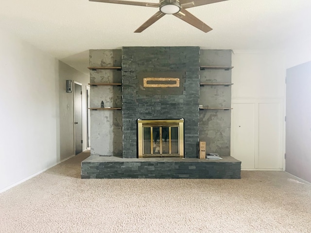
<path fill-rule="evenodd" d="M 231 156 L 242 169 L 282 170 L 283 100 L 234 100 Z"/>

